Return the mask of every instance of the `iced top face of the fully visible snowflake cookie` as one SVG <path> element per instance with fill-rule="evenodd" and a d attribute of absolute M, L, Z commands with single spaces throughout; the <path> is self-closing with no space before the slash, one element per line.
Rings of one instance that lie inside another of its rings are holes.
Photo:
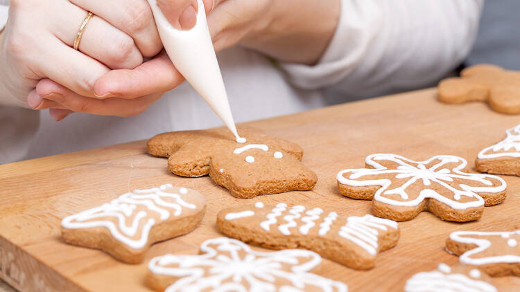
<path fill-rule="evenodd" d="M 477 193 L 499 193 L 506 187 L 499 176 L 463 172 L 465 159 L 433 156 L 427 161 L 411 161 L 395 154 L 372 154 L 366 158 L 373 168 L 343 170 L 338 183 L 354 187 L 379 185 L 374 200 L 392 206 L 419 206 L 431 198 L 456 210 L 484 206 Z"/>

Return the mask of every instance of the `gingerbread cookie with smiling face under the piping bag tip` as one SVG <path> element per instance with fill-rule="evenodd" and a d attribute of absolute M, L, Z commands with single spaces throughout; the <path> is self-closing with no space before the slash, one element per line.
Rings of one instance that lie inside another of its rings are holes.
<path fill-rule="evenodd" d="M 239 129 L 247 142 L 237 143 L 226 128 L 178 131 L 148 140 L 148 152 L 168 157 L 168 169 L 174 174 L 209 174 L 241 199 L 314 187 L 318 178 L 302 164 L 300 146 L 257 129 Z"/>

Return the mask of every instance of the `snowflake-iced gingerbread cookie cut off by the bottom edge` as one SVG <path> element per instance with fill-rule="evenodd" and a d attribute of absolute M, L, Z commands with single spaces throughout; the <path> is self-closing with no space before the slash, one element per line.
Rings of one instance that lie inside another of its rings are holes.
<path fill-rule="evenodd" d="M 204 241 L 200 255 L 163 255 L 148 263 L 148 284 L 157 291 L 327 291 L 347 285 L 310 273 L 321 257 L 309 250 L 254 251 L 235 239 Z"/>

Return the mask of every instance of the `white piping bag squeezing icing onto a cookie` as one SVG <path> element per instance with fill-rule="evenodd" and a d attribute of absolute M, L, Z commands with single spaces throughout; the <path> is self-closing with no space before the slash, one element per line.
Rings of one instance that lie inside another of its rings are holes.
<path fill-rule="evenodd" d="M 174 28 L 157 6 L 157 0 L 148 0 L 148 3 L 162 44 L 175 68 L 232 131 L 236 142 L 245 143 L 245 138 L 241 138 L 236 131 L 202 0 L 198 0 L 197 24 L 190 30 Z"/>

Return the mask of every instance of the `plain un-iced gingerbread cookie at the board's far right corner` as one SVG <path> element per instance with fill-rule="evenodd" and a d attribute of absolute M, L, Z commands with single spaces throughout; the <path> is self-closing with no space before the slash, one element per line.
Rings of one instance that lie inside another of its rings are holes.
<path fill-rule="evenodd" d="M 520 71 L 487 64 L 471 66 L 460 77 L 442 80 L 438 89 L 442 102 L 486 101 L 495 111 L 520 113 Z"/>

